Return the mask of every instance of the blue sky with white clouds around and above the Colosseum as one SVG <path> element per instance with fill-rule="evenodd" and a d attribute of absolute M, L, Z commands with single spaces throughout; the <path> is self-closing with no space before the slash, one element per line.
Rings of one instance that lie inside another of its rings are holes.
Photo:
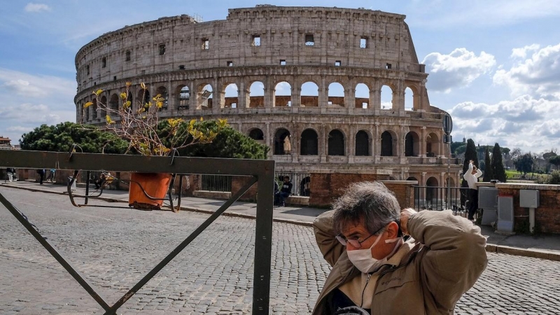
<path fill-rule="evenodd" d="M 18 144 L 41 124 L 76 121 L 74 57 L 94 38 L 165 16 L 224 20 L 228 8 L 263 3 L 406 15 L 416 54 L 429 73 L 430 104 L 451 114 L 454 141 L 466 137 L 533 153 L 560 148 L 556 0 L 3 0 L 0 136 Z"/>

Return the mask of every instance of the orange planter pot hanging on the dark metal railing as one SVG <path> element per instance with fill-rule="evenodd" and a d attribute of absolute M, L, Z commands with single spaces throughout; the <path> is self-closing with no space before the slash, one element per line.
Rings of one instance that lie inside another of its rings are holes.
<path fill-rule="evenodd" d="M 165 198 L 172 174 L 132 173 L 128 190 L 128 205 L 134 209 L 160 210 L 163 200 L 151 200 L 146 197 L 142 188 L 150 197 Z M 139 184 L 142 186 L 140 188 Z"/>

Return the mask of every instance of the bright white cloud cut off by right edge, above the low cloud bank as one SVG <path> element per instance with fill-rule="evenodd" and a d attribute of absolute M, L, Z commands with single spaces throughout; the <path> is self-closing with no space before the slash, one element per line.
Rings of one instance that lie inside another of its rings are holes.
<path fill-rule="evenodd" d="M 514 50 L 515 57 L 525 48 Z M 560 43 L 533 50 L 530 58 L 520 60 L 510 70 L 496 71 L 493 82 L 510 87 L 514 95 L 531 93 L 535 97 L 560 97 Z"/>

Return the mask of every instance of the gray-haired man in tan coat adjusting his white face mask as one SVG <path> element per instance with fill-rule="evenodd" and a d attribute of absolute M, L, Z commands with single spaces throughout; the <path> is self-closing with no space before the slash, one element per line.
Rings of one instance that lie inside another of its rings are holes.
<path fill-rule="evenodd" d="M 333 209 L 314 222 L 332 266 L 314 315 L 453 314 L 486 268 L 477 226 L 451 211 L 400 211 L 382 183 L 353 183 Z"/>

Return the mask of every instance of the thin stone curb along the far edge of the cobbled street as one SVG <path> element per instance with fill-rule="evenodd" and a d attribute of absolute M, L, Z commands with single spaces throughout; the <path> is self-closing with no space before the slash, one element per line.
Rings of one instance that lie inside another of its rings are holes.
<path fill-rule="evenodd" d="M 51 194 L 57 194 L 57 195 L 68 195 L 68 193 L 66 193 L 66 192 L 43 190 L 43 189 L 29 188 L 29 187 L 11 186 L 11 185 L 8 185 L 8 184 L 5 184 L 5 183 L 0 183 L 0 186 L 17 188 L 17 189 L 22 189 L 22 190 L 29 190 L 29 191 L 38 192 L 38 193 L 51 193 Z M 95 199 L 104 200 L 104 201 L 107 201 L 107 202 L 125 202 L 126 203 L 125 200 L 120 200 L 120 199 L 111 198 L 111 197 L 96 197 Z M 214 211 L 207 210 L 207 209 L 201 209 L 201 208 L 195 208 L 195 207 L 181 207 L 181 210 L 192 211 L 192 212 L 200 212 L 202 214 L 214 214 Z M 253 219 L 253 220 L 256 219 L 256 216 L 253 216 L 251 214 L 241 214 L 241 213 L 235 212 L 235 211 L 224 212 L 222 215 L 223 216 L 232 216 L 232 217 L 237 217 L 237 218 L 248 218 L 248 219 Z M 304 222 L 304 221 L 297 221 L 297 220 L 290 220 L 290 219 L 283 219 L 283 218 L 272 218 L 272 221 L 277 222 L 277 223 L 288 223 L 288 224 L 303 225 L 303 226 L 309 226 L 309 227 L 313 226 L 313 223 L 311 223 L 311 222 Z M 524 257 L 560 261 L 560 253 L 555 253 L 555 252 L 552 252 L 552 251 L 546 251 L 544 249 L 538 249 L 538 248 L 525 249 L 525 248 L 519 248 L 519 247 L 514 247 L 514 246 L 486 244 L 486 251 L 490 252 L 490 253 L 505 253 L 505 254 L 508 254 L 508 255 L 518 255 L 518 256 L 524 256 Z"/>

